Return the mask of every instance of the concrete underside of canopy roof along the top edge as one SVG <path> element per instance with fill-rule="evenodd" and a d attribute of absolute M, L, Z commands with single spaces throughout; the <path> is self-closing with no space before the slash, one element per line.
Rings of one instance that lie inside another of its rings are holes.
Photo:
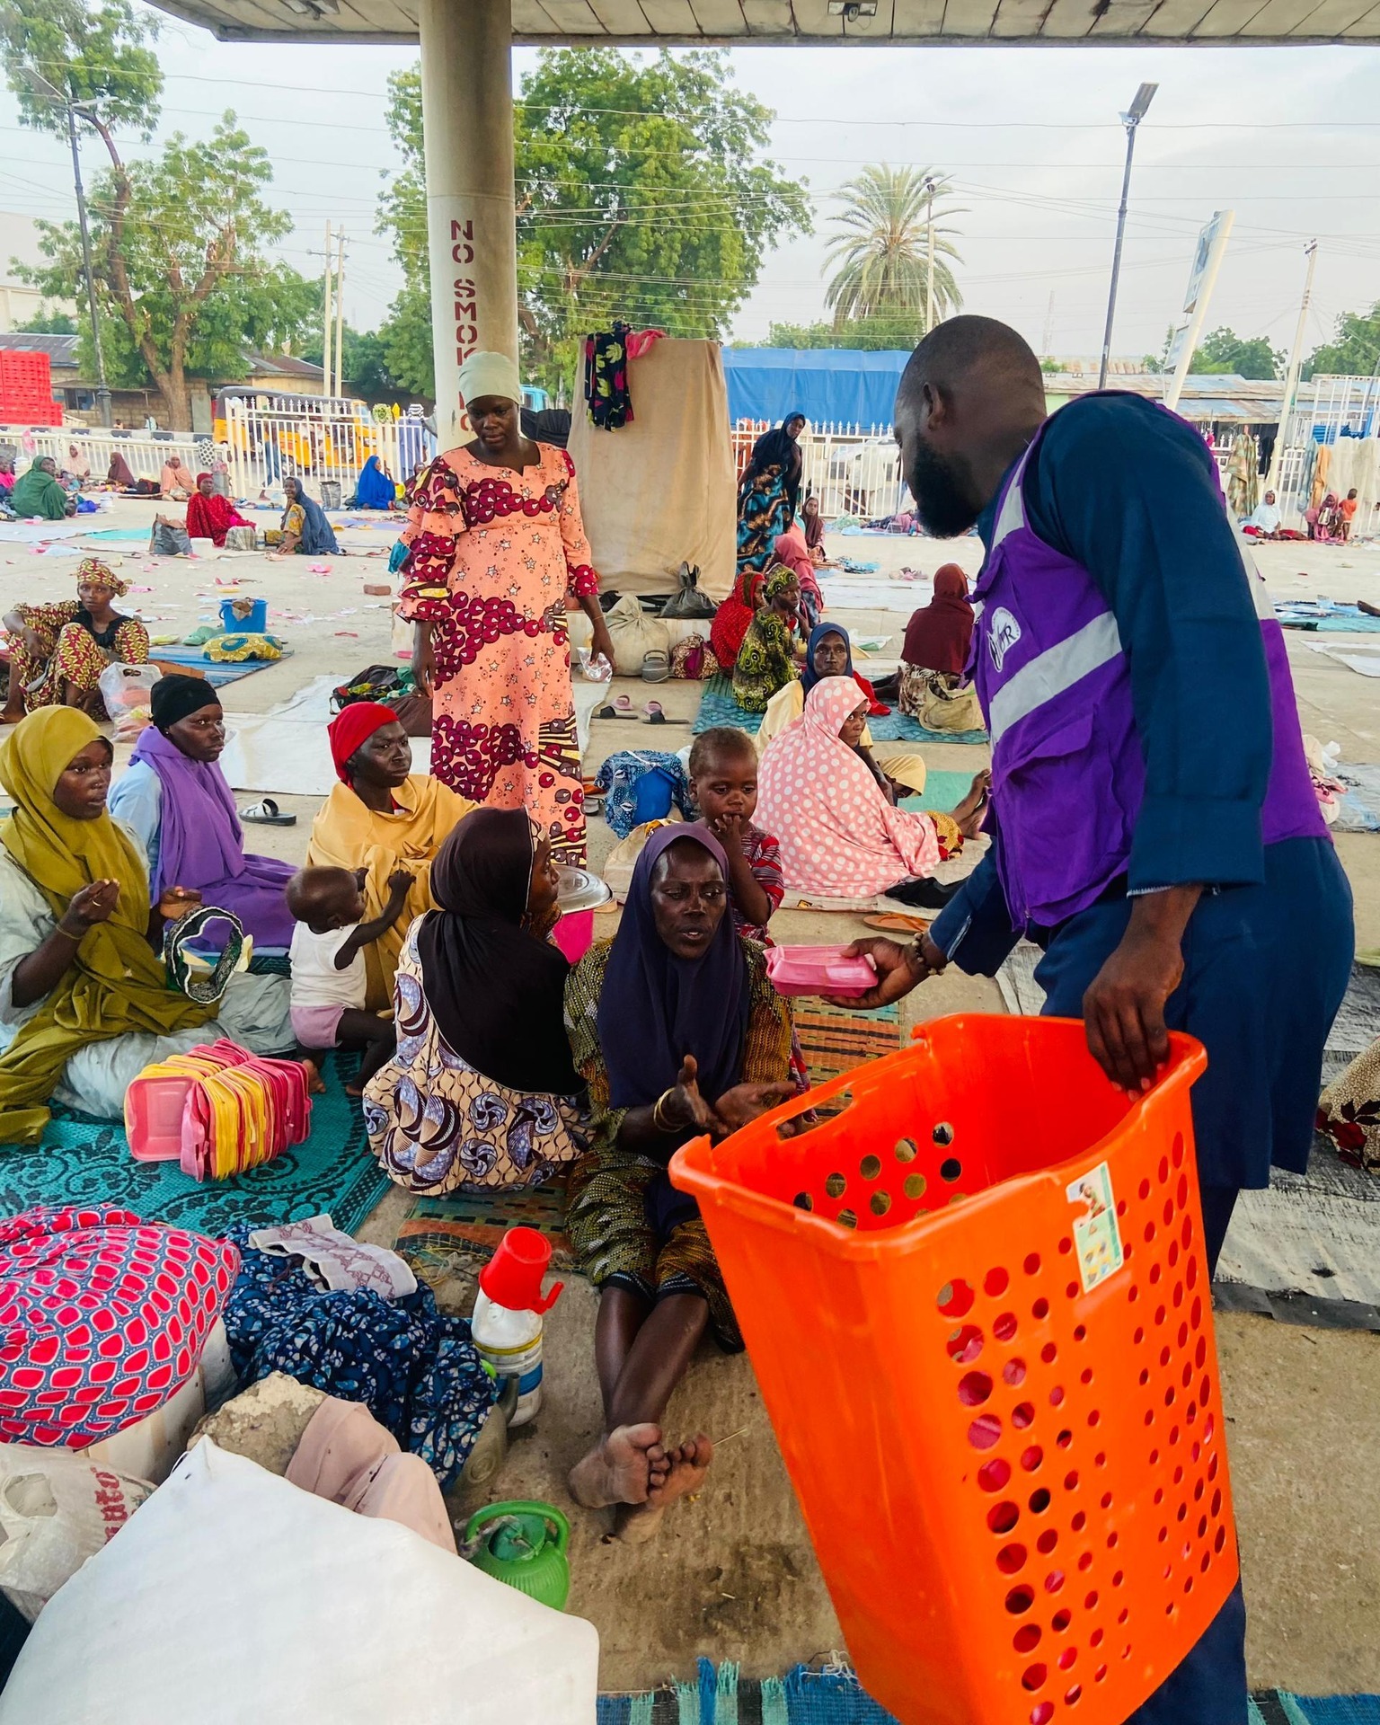
<path fill-rule="evenodd" d="M 417 40 L 416 0 L 157 0 L 223 41 Z M 492 0 L 493 5 L 507 0 Z M 511 0 L 512 40 L 555 47 L 657 43 L 1004 47 L 1116 43 L 1375 43 L 1380 0 Z"/>

